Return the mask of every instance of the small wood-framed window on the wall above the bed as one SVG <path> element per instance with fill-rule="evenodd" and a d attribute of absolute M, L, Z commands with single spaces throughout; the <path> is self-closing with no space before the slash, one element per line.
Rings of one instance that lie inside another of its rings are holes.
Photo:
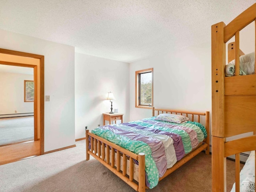
<path fill-rule="evenodd" d="M 151 108 L 153 105 L 153 68 L 135 72 L 135 107 Z"/>

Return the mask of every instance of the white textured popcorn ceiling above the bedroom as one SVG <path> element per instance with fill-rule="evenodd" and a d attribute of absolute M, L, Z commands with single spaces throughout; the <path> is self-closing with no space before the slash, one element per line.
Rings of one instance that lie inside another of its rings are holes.
<path fill-rule="evenodd" d="M 1 0 L 0 29 L 134 62 L 209 42 L 255 0 Z"/>

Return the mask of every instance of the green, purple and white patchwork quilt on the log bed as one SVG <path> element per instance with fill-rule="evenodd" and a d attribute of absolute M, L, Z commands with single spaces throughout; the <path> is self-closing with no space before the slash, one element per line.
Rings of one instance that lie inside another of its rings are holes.
<path fill-rule="evenodd" d="M 145 154 L 147 186 L 158 184 L 167 168 L 206 138 L 204 126 L 198 122 L 182 124 L 158 121 L 155 117 L 106 125 L 92 130 L 96 134 L 135 154 Z"/>

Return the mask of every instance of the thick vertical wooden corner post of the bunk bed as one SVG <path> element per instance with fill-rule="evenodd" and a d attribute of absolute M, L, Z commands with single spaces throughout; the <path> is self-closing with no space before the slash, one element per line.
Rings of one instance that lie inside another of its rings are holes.
<path fill-rule="evenodd" d="M 212 25 L 212 192 L 226 191 L 224 158 L 224 22 Z"/>

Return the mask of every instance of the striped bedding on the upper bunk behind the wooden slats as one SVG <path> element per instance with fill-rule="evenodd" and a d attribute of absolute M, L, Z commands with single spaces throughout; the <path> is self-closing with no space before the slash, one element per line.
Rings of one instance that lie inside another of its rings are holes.
<path fill-rule="evenodd" d="M 255 52 L 240 56 L 240 75 L 255 74 Z M 225 68 L 226 77 L 235 76 L 235 60 L 232 60 Z"/>

